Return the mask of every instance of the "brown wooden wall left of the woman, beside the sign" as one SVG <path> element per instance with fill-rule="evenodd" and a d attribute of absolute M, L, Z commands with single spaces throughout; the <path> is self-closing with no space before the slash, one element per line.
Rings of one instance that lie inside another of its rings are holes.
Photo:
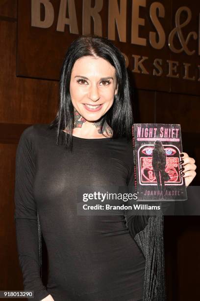
<path fill-rule="evenodd" d="M 25 127 L 55 116 L 58 82 L 16 77 L 17 0 L 0 1 L 0 290 L 23 290 L 15 238 L 15 153 Z M 25 300 L 25 299 L 22 299 Z"/>

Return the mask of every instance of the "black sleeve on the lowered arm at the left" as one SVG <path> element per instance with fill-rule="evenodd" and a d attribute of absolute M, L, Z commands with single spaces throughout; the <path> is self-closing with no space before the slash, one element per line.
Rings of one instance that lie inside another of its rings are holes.
<path fill-rule="evenodd" d="M 15 225 L 19 263 L 23 273 L 24 290 L 34 291 L 34 299 L 49 295 L 40 277 L 37 207 L 33 196 L 35 174 L 33 125 L 20 137 L 16 152 Z"/>

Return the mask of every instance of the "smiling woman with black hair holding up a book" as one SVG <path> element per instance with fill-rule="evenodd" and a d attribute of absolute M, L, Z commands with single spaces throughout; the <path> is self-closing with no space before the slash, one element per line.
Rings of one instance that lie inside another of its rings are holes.
<path fill-rule="evenodd" d="M 142 224 L 134 228 L 124 211 L 77 212 L 82 192 L 132 191 L 132 123 L 123 55 L 107 39 L 77 38 L 63 63 L 55 120 L 26 128 L 17 149 L 19 261 L 35 300 L 152 300 L 143 295 L 146 260 L 133 239 Z M 186 153 L 183 160 L 189 185 L 196 166 Z M 37 211 L 48 251 L 47 287 L 39 272 Z M 150 298 L 156 290 L 159 284 Z"/>

